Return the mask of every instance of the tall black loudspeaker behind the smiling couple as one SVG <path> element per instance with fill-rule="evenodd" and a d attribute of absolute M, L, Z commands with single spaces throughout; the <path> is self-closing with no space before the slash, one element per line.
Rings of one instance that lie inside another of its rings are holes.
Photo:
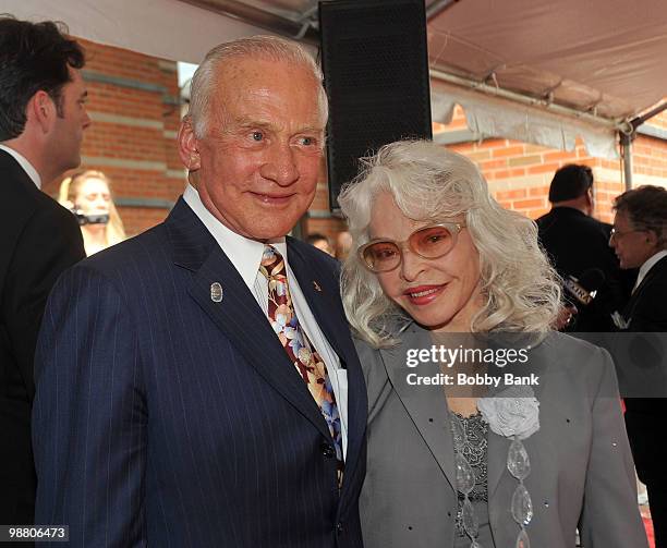
<path fill-rule="evenodd" d="M 329 98 L 329 204 L 359 158 L 401 138 L 433 138 L 424 0 L 319 3 Z"/>

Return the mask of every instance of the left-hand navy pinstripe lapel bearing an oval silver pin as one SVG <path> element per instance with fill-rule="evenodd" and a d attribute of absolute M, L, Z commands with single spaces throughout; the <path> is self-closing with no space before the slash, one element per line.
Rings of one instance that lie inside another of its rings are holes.
<path fill-rule="evenodd" d="M 190 207 L 179 200 L 168 220 L 177 265 L 194 271 L 187 291 L 264 379 L 330 438 L 327 424 L 255 297 Z M 203 242 L 205 244 L 203 245 Z M 222 287 L 221 302 L 211 284 Z"/>

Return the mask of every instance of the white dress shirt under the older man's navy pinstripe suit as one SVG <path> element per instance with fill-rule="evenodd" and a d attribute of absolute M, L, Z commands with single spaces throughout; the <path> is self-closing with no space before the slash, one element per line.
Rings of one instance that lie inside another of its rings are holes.
<path fill-rule="evenodd" d="M 245 236 L 237 234 L 234 231 L 227 228 L 213 214 L 206 209 L 199 193 L 192 186 L 187 185 L 183 192 L 183 199 L 199 218 L 210 234 L 216 239 L 220 248 L 225 252 L 229 260 L 237 268 L 241 278 L 251 290 L 251 293 L 257 301 L 257 304 L 267 316 L 268 321 L 268 280 L 259 272 L 262 255 L 264 254 L 264 243 L 255 240 L 250 240 Z M 288 247 L 284 238 L 270 240 L 266 242 L 272 245 L 280 252 L 284 258 L 287 266 L 288 283 L 290 294 L 294 304 L 299 324 L 305 334 L 317 350 L 319 356 L 327 366 L 327 373 L 331 381 L 331 388 L 336 395 L 338 413 L 340 415 L 341 437 L 343 458 L 347 454 L 348 447 L 348 375 L 345 369 L 340 366 L 340 360 L 327 338 L 322 332 L 319 325 L 315 320 L 315 316 L 311 312 L 308 303 L 299 287 L 296 277 L 290 268 Z M 294 374 L 298 374 L 294 368 Z"/>

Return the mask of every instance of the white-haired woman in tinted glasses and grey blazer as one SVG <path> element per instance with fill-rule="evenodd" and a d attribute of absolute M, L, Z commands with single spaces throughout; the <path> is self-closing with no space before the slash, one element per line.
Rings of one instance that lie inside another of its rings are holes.
<path fill-rule="evenodd" d="M 368 389 L 365 547 L 572 548 L 578 527 L 586 547 L 645 547 L 611 361 L 549 329 L 560 290 L 535 224 L 433 143 L 365 161 L 339 197 Z M 510 355 L 538 382 L 487 392 Z"/>

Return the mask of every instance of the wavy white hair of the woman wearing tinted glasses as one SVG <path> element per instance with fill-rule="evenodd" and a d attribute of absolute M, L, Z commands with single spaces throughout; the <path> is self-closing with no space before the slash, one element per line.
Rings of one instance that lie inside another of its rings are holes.
<path fill-rule="evenodd" d="M 405 217 L 425 222 L 463 216 L 480 253 L 483 308 L 473 332 L 545 333 L 560 308 L 558 276 L 537 242 L 535 223 L 504 209 L 465 157 L 428 141 L 401 141 L 362 158 L 361 174 L 338 198 L 354 239 L 368 241 L 375 198 L 388 192 Z M 385 296 L 377 277 L 356 253 L 343 265 L 345 314 L 360 337 L 374 346 L 395 344 L 397 319 L 405 314 Z"/>

